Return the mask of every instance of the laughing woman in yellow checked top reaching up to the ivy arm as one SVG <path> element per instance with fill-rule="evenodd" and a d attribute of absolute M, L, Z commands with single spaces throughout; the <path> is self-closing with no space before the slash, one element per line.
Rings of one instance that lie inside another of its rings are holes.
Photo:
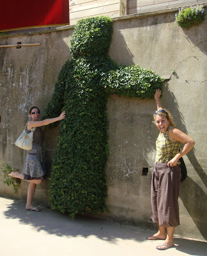
<path fill-rule="evenodd" d="M 155 92 L 157 111 L 155 124 L 160 134 L 156 141 L 155 170 L 151 182 L 152 220 L 158 223 L 158 232 L 148 236 L 149 240 L 164 240 L 158 250 L 167 250 L 174 246 L 174 228 L 180 225 L 178 195 L 180 188 L 180 157 L 187 154 L 195 142 L 187 134 L 175 128 L 173 117 L 162 108 L 161 91 Z M 183 149 L 180 150 L 180 143 Z M 167 235 L 166 235 L 167 229 Z"/>

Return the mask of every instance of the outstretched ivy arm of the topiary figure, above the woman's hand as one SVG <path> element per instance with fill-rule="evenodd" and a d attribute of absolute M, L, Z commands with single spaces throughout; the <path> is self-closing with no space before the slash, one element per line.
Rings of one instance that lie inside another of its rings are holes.
<path fill-rule="evenodd" d="M 103 79 L 109 94 L 129 97 L 153 98 L 157 88 L 162 90 L 164 79 L 151 69 L 139 66 L 119 67 L 111 70 Z"/>

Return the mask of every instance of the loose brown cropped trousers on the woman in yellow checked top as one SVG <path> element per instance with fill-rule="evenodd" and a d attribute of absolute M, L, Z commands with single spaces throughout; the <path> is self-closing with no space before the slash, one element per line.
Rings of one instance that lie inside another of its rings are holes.
<path fill-rule="evenodd" d="M 152 220 L 163 227 L 180 225 L 178 195 L 180 166 L 168 167 L 167 163 L 155 163 L 151 181 Z"/>

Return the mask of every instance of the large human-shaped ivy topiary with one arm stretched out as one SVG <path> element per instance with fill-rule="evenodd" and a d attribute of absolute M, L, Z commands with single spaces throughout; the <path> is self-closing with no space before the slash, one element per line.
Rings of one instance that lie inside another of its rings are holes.
<path fill-rule="evenodd" d="M 141 67 L 118 67 L 107 52 L 112 38 L 109 17 L 77 22 L 72 58 L 57 78 L 45 118 L 66 111 L 50 178 L 52 209 L 77 213 L 105 211 L 105 164 L 109 154 L 106 104 L 110 94 L 153 97 L 163 80 Z"/>

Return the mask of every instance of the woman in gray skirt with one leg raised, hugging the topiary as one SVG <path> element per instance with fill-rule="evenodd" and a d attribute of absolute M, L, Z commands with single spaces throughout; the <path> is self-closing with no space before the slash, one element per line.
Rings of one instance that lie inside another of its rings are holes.
<path fill-rule="evenodd" d="M 43 149 L 43 126 L 52 124 L 65 118 L 65 111 L 61 115 L 55 118 L 49 118 L 42 121 L 40 119 L 40 109 L 33 106 L 29 110 L 31 121 L 27 123 L 27 132 L 31 132 L 31 129 L 35 127 L 33 135 L 33 148 L 27 152 L 26 160 L 22 173 L 19 170 L 14 170 L 8 173 L 9 176 L 26 180 L 29 182 L 27 189 L 27 203 L 26 210 L 40 211 L 37 207 L 32 205 L 34 191 L 37 184 L 40 184 L 45 176 L 45 168 L 42 159 Z"/>

